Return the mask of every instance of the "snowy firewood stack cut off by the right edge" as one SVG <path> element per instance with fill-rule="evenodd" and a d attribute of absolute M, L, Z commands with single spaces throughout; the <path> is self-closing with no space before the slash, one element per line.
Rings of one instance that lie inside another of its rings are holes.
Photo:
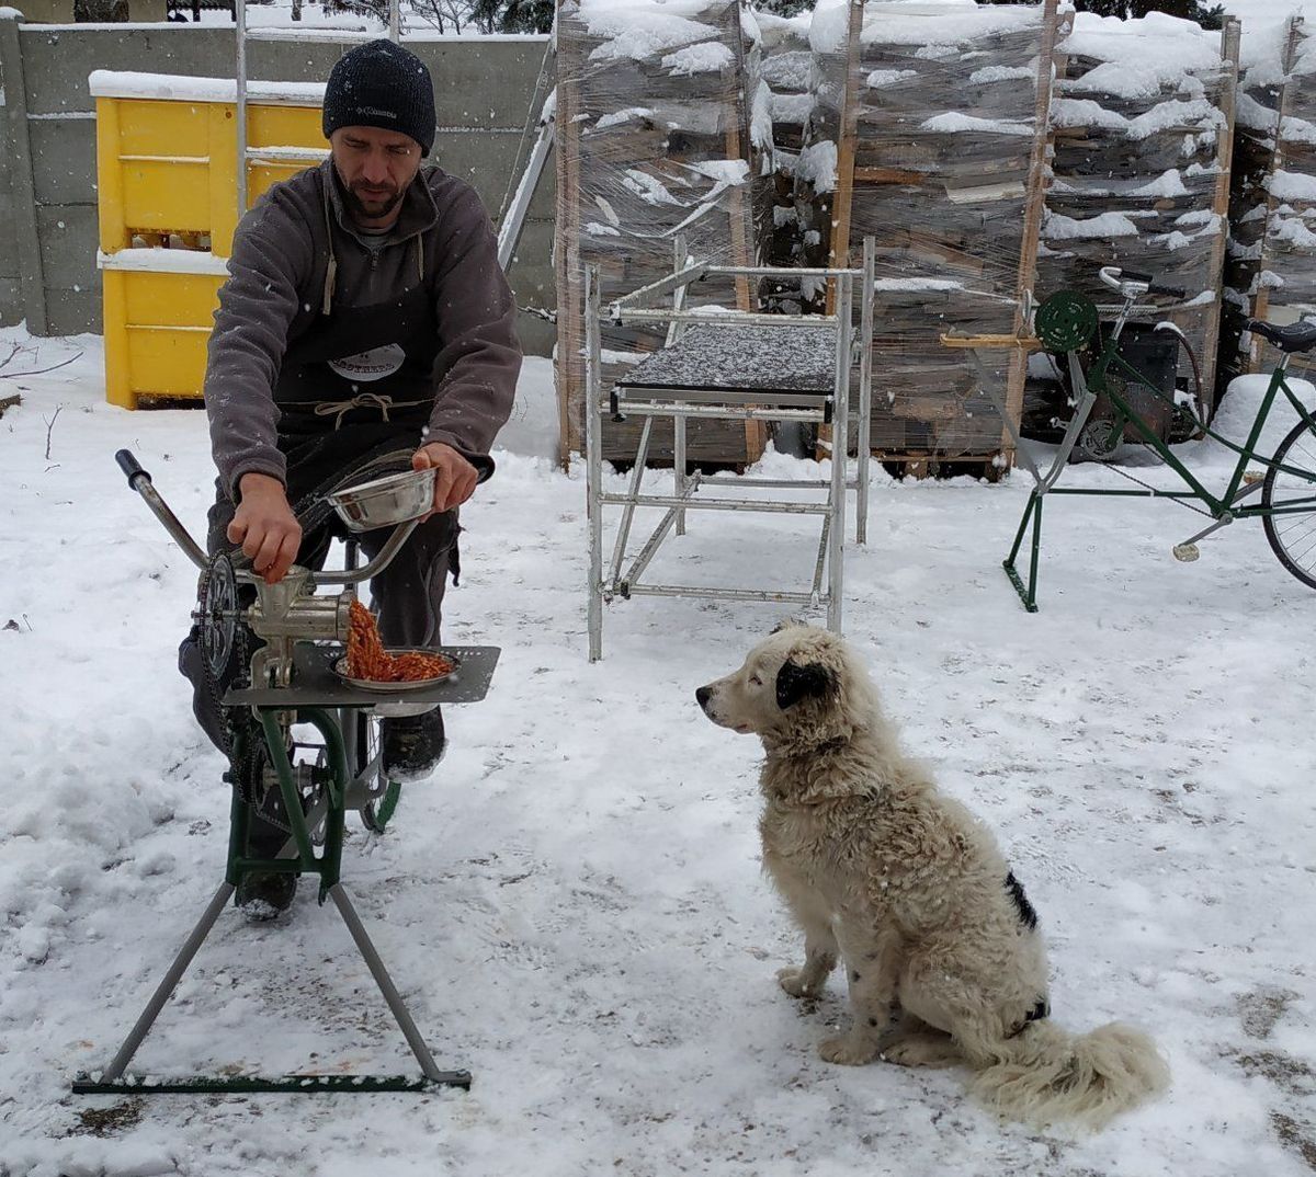
<path fill-rule="evenodd" d="M 1302 17 L 1267 32 L 1273 43 L 1250 55 L 1238 79 L 1221 391 L 1267 358 L 1248 318 L 1316 313 L 1316 38 Z M 1309 368 L 1311 358 L 1292 363 Z"/>

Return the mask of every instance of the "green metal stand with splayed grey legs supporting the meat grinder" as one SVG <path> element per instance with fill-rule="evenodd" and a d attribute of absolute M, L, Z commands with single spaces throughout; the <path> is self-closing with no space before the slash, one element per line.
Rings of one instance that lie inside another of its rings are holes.
<path fill-rule="evenodd" d="M 287 708 L 259 706 L 255 709 L 261 719 L 261 729 L 270 755 L 270 764 L 279 777 L 279 790 L 283 796 L 284 811 L 292 827 L 292 839 L 296 847 L 295 856 L 276 859 L 247 857 L 245 847 L 247 844 L 247 826 L 250 811 L 247 804 L 240 796 L 237 788 L 233 790 L 233 805 L 230 810 L 229 852 L 225 880 L 215 893 L 207 906 L 201 919 L 192 928 L 183 947 L 174 957 L 163 980 L 157 986 L 151 999 L 146 1003 L 133 1030 L 129 1032 L 118 1052 L 109 1065 L 97 1074 L 79 1074 L 74 1080 L 72 1090 L 76 1094 L 159 1094 L 159 1093 L 251 1093 L 251 1092 L 421 1092 L 437 1086 L 468 1088 L 471 1076 L 467 1070 L 440 1070 L 434 1059 L 425 1045 L 416 1023 L 412 1021 L 401 996 L 397 993 L 388 971 L 384 968 L 379 953 L 366 928 L 357 915 L 355 907 L 347 898 L 340 880 L 342 863 L 342 836 L 345 825 L 345 801 L 347 784 L 350 781 L 347 759 L 343 751 L 342 731 L 334 714 L 324 708 L 300 708 L 296 711 L 297 722 L 312 723 L 324 736 L 328 754 L 328 773 L 324 780 L 325 786 L 325 818 L 324 818 L 324 848 L 316 856 L 312 846 L 311 830 L 307 826 L 301 810 L 301 801 L 297 796 L 292 763 L 283 743 L 283 734 L 279 729 L 276 715 Z M 411 1047 L 416 1061 L 420 1064 L 420 1077 L 408 1076 L 346 1076 L 346 1074 L 286 1074 L 275 1078 L 262 1078 L 257 1076 L 195 1076 L 186 1078 L 142 1078 L 125 1074 L 128 1064 L 141 1045 L 151 1024 L 164 1007 L 183 973 L 191 964 L 192 957 L 215 927 L 220 913 L 228 905 L 233 893 L 243 876 L 271 871 L 290 871 L 296 875 L 316 875 L 320 878 L 320 903 L 326 898 L 333 900 L 338 914 L 342 917 L 347 931 L 351 934 L 361 952 L 362 959 L 370 968 L 375 984 L 379 986 L 388 1009 L 397 1021 L 407 1044 Z"/>

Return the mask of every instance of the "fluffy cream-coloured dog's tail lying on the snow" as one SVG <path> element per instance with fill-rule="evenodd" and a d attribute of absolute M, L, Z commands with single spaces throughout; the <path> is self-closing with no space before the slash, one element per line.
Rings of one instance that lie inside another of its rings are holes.
<path fill-rule="evenodd" d="M 1030 1022 L 994 1052 L 973 1093 L 1008 1119 L 1103 1127 L 1163 1092 L 1170 1068 L 1155 1043 L 1120 1022 L 1074 1035 L 1050 1018 Z"/>

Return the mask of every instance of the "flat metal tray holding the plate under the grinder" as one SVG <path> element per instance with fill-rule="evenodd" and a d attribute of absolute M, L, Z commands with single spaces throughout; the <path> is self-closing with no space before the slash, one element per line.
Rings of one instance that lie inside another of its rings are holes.
<path fill-rule="evenodd" d="M 488 694 L 497 646 L 441 646 L 436 652 L 455 659 L 457 673 L 432 686 L 384 692 L 345 683 L 334 663 L 343 656 L 342 646 L 312 646 L 299 642 L 292 654 L 291 686 L 246 686 L 224 696 L 226 708 L 379 708 L 387 713 L 391 702 L 412 705 L 474 704 Z"/>

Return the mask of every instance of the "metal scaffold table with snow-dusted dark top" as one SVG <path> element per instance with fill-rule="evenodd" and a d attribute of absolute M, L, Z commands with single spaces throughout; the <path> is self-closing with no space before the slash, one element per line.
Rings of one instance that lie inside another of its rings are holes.
<path fill-rule="evenodd" d="M 873 388 L 873 288 L 875 246 L 863 243 L 863 267 L 788 268 L 713 266 L 687 259 L 676 245 L 672 274 L 601 305 L 599 272 L 586 270 L 586 481 L 590 505 L 590 659 L 603 655 L 603 605 L 617 597 L 703 597 L 732 601 L 783 601 L 825 608 L 828 627 L 841 629 L 848 491 L 855 492 L 855 539 L 867 539 L 869 427 Z M 686 309 L 691 283 L 709 279 L 824 279 L 836 284 L 832 314 L 765 314 L 717 308 Z M 854 283 L 862 283 L 859 325 L 854 324 Z M 658 300 L 671 296 L 670 304 Z M 601 325 L 667 324 L 666 346 L 603 389 Z M 858 368 L 855 379 L 855 368 Z M 854 410 L 855 473 L 850 475 L 850 391 Z M 603 421 L 644 418 L 634 467 L 622 493 L 603 489 Z M 642 493 L 645 462 L 655 420 L 672 422 L 671 494 Z M 830 477 L 766 479 L 688 471 L 686 426 L 691 420 L 775 421 L 829 426 Z M 699 496 L 716 488 L 716 497 Z M 821 501 L 762 496 L 763 491 L 821 488 Z M 749 494 L 741 492 L 749 492 Z M 607 575 L 603 567 L 603 512 L 621 508 Z M 622 571 L 637 508 L 663 514 L 630 565 Z M 822 519 L 813 584 L 808 590 L 654 584 L 644 575 L 665 539 L 686 534 L 690 510 L 808 514 Z"/>

